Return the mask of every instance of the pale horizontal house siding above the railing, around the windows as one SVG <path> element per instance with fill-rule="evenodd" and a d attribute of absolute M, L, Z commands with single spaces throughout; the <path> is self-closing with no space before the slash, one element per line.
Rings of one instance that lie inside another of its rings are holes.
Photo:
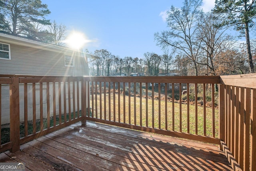
<path fill-rule="evenodd" d="M 10 44 L 10 54 L 11 60 L 0 59 L 0 74 L 85 76 L 89 73 L 86 59 L 82 57 L 75 57 L 74 67 L 65 67 L 64 55 L 77 54 L 70 54 L 64 50 L 52 52 Z"/>

